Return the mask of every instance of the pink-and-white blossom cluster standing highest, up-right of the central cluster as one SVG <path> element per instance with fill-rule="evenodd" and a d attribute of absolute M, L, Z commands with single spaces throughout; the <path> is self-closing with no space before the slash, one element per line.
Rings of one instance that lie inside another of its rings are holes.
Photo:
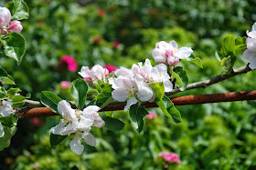
<path fill-rule="evenodd" d="M 171 41 L 169 44 L 165 41 L 158 42 L 152 51 L 156 63 L 167 63 L 168 65 L 176 65 L 179 59 L 187 59 L 192 53 L 191 47 L 178 48 L 176 41 Z"/>

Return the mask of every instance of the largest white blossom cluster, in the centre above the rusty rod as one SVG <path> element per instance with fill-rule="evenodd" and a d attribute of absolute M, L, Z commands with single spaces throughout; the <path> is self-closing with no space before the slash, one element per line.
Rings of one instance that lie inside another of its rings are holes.
<path fill-rule="evenodd" d="M 109 84 L 114 89 L 112 97 L 119 102 L 128 100 L 124 111 L 139 101 L 155 101 L 155 92 L 149 86 L 150 84 L 163 82 L 165 92 L 170 92 L 173 89 L 166 65 L 160 64 L 154 67 L 149 59 L 145 60 L 144 65 L 142 63 L 133 64 L 131 70 L 121 67 L 115 71 L 115 75 L 115 78 L 109 79 Z"/>

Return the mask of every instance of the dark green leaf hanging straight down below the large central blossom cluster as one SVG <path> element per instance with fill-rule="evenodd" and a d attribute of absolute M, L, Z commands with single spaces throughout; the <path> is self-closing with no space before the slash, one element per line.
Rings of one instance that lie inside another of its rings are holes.
<path fill-rule="evenodd" d="M 148 115 L 148 112 L 145 110 L 144 106 L 136 104 L 130 107 L 129 115 L 133 129 L 137 133 L 141 133 L 144 128 L 144 116 Z"/>

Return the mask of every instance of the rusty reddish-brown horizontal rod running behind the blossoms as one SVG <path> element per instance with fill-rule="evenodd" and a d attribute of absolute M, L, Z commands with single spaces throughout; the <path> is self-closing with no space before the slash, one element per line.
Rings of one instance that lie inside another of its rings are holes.
<path fill-rule="evenodd" d="M 185 95 L 170 97 L 174 105 L 198 105 L 198 104 L 208 104 L 208 103 L 219 103 L 219 102 L 233 102 L 233 101 L 243 101 L 243 100 L 256 100 L 256 90 L 247 92 L 229 92 L 224 94 L 212 94 L 212 95 Z M 144 103 L 146 108 L 157 107 L 155 103 Z M 124 105 L 107 105 L 100 112 L 103 111 L 116 111 L 123 110 Z M 21 113 L 19 116 L 24 115 Z M 24 118 L 38 117 L 38 116 L 49 116 L 58 115 L 52 112 L 47 107 L 37 107 L 30 109 Z"/>

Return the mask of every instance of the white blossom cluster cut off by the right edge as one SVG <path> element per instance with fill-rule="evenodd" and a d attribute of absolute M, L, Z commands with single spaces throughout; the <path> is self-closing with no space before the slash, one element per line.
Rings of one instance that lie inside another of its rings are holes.
<path fill-rule="evenodd" d="M 252 25 L 251 32 L 247 30 L 248 38 L 245 44 L 247 45 L 247 50 L 243 52 L 243 57 L 249 60 L 251 69 L 256 69 L 256 23 Z"/>

